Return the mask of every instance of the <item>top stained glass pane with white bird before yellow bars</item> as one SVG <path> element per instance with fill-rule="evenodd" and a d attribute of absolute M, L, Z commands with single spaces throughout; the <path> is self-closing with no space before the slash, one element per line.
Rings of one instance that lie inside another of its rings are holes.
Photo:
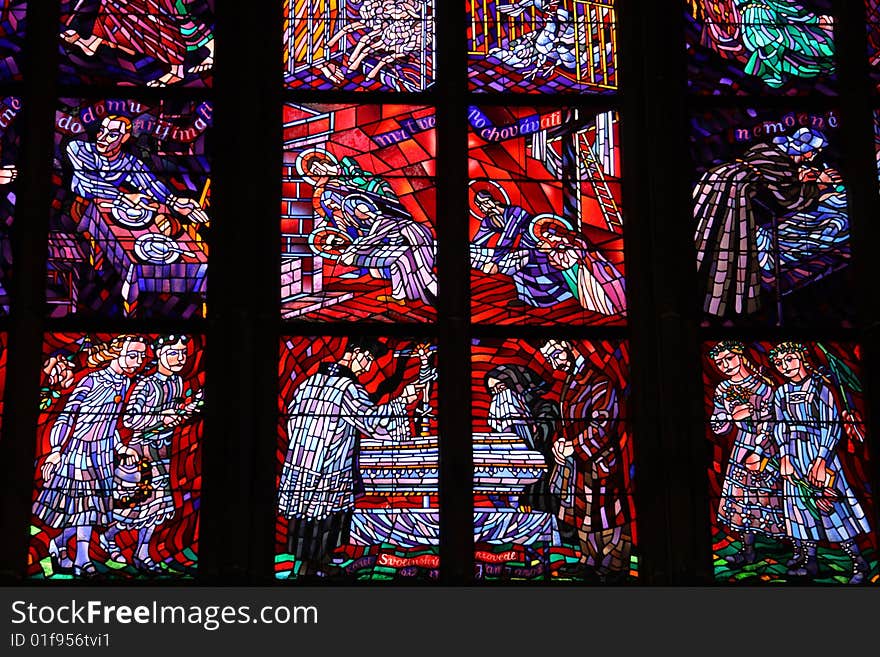
<path fill-rule="evenodd" d="M 612 93 L 615 0 L 465 0 L 472 91 Z"/>

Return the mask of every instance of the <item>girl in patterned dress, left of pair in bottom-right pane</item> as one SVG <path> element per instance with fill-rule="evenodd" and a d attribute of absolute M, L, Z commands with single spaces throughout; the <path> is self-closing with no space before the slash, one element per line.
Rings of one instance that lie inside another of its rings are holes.
<path fill-rule="evenodd" d="M 739 552 L 726 561 L 743 566 L 757 561 L 757 534 L 785 536 L 778 473 L 762 467 L 777 455 L 770 432 L 773 390 L 746 356 L 743 343 L 719 342 L 709 358 L 725 377 L 715 388 L 709 426 L 719 436 L 734 432 L 717 517 L 742 539 Z"/>

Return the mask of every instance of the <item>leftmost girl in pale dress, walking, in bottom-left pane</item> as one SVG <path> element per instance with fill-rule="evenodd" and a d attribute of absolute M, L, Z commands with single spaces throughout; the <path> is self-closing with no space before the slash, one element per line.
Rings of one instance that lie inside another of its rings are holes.
<path fill-rule="evenodd" d="M 61 530 L 49 545 L 60 569 L 95 575 L 89 555 L 93 528 L 107 525 L 113 504 L 113 459 L 133 463 L 137 452 L 119 436 L 117 422 L 134 376 L 144 362 L 146 344 L 137 335 L 120 335 L 93 347 L 88 366 L 99 368 L 80 379 L 49 434 L 51 451 L 40 475 L 42 486 L 33 513 L 47 527 Z M 67 545 L 76 536 L 76 556 Z"/>

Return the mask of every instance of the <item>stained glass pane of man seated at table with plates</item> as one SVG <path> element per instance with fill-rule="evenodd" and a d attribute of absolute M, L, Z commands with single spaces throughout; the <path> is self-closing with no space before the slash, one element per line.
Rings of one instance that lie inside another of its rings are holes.
<path fill-rule="evenodd" d="M 52 317 L 202 317 L 209 102 L 63 99 L 56 115 Z"/>

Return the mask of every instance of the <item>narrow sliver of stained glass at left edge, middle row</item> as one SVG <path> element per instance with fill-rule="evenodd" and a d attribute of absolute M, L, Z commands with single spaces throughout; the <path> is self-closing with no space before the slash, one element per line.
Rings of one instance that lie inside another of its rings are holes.
<path fill-rule="evenodd" d="M 12 241 L 9 230 L 15 211 L 15 181 L 18 178 L 18 114 L 21 99 L 7 96 L 0 101 L 0 314 L 9 313 L 12 274 Z"/>

